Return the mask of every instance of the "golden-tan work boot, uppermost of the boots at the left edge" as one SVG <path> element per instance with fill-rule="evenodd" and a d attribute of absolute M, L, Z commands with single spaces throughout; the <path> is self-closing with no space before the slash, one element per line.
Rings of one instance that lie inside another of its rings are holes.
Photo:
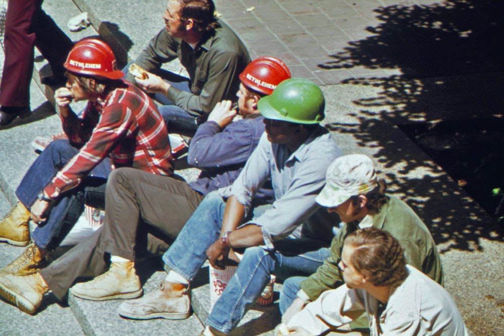
<path fill-rule="evenodd" d="M 29 220 L 30 212 L 21 202 L 18 202 L 0 221 L 0 242 L 16 246 L 28 245 L 30 243 Z"/>

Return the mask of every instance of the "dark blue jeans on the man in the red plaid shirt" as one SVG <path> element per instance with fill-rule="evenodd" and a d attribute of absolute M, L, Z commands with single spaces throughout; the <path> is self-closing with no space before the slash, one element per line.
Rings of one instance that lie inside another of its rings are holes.
<path fill-rule="evenodd" d="M 19 201 L 30 209 L 37 195 L 63 168 L 79 149 L 68 140 L 55 140 L 47 146 L 33 162 L 19 184 L 16 195 Z M 35 244 L 52 250 L 65 238 L 84 210 L 84 204 L 103 209 L 105 206 L 105 183 L 110 174 L 109 159 L 98 164 L 81 184 L 63 192 L 51 204 L 47 220 L 36 227 L 31 235 Z"/>

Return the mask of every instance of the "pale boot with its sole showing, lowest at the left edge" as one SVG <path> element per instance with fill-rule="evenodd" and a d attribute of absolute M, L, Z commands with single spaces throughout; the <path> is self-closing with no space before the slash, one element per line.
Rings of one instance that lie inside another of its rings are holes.
<path fill-rule="evenodd" d="M 39 273 L 29 276 L 0 276 L 0 295 L 22 311 L 33 314 L 49 287 Z"/>

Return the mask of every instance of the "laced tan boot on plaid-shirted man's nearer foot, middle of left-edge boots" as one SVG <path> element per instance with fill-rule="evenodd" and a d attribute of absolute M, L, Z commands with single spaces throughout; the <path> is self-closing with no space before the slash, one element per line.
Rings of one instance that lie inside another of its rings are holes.
<path fill-rule="evenodd" d="M 37 273 L 45 266 L 47 266 L 45 251 L 38 248 L 35 243 L 31 243 L 16 260 L 0 269 L 0 275 L 27 276 Z"/>

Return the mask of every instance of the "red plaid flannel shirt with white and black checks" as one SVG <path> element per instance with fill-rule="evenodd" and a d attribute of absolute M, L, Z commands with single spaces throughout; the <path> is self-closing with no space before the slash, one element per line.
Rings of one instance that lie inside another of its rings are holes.
<path fill-rule="evenodd" d="M 173 159 L 166 125 L 154 102 L 129 82 L 96 102 L 89 101 L 79 118 L 61 117 L 63 129 L 76 144 L 84 144 L 45 187 L 51 198 L 79 185 L 109 156 L 112 169 L 138 168 L 153 174 L 172 175 Z"/>

